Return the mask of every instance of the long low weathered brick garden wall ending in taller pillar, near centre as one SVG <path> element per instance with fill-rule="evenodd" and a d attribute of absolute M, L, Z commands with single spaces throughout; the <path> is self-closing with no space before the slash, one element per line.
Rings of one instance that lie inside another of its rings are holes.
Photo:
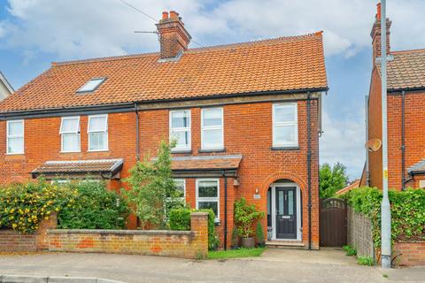
<path fill-rule="evenodd" d="M 208 215 L 190 215 L 190 231 L 50 230 L 49 250 L 206 258 Z"/>

